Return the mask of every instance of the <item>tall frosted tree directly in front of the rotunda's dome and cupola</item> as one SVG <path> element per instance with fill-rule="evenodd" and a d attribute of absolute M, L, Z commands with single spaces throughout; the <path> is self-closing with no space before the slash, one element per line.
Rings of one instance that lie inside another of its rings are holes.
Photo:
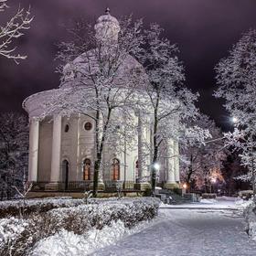
<path fill-rule="evenodd" d="M 140 52 L 144 40 L 140 20 L 133 23 L 132 18 L 127 17 L 119 23 L 108 10 L 103 18 L 97 21 L 96 35 L 91 24 L 79 22 L 70 30 L 73 40 L 59 45 L 58 59 L 62 63 L 59 71 L 64 90 L 46 102 L 47 111 L 42 116 L 91 113 L 96 134 L 94 197 L 105 145 L 115 141 L 113 136 L 125 136 L 126 140 L 129 133 L 133 133 L 133 129 L 127 128 L 133 125 L 132 110 L 138 100 L 135 89 L 140 87 L 142 72 L 133 56 Z M 123 116 L 122 122 L 117 115 Z"/>

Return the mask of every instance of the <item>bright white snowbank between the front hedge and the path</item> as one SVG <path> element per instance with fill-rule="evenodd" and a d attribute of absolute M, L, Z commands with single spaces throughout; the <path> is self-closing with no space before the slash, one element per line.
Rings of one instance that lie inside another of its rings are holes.
<path fill-rule="evenodd" d="M 144 229 L 147 225 L 147 222 L 143 222 L 133 229 L 128 229 L 125 228 L 123 221 L 118 220 L 113 221 L 110 226 L 105 226 L 102 229 L 93 228 L 82 235 L 63 229 L 51 237 L 39 240 L 29 256 L 84 256 L 112 245 L 123 237 Z"/>

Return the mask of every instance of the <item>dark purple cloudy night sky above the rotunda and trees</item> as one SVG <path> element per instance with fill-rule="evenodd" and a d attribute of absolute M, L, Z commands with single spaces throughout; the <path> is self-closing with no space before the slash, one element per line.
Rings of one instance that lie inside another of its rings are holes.
<path fill-rule="evenodd" d="M 16 10 L 18 4 L 35 16 L 31 29 L 18 42 L 18 51 L 28 58 L 16 65 L 0 57 L 0 112 L 21 112 L 22 101 L 37 91 L 59 86 L 54 61 L 61 40 L 68 33 L 65 25 L 73 18 L 91 21 L 104 13 L 106 6 L 117 18 L 133 13 L 144 23 L 156 22 L 165 28 L 165 37 L 180 49 L 187 87 L 198 91 L 200 110 L 210 115 L 225 130 L 229 116 L 223 101 L 212 97 L 216 89 L 214 66 L 228 55 L 241 33 L 256 28 L 255 0 L 9 0 L 10 9 L 0 14 L 0 22 Z"/>

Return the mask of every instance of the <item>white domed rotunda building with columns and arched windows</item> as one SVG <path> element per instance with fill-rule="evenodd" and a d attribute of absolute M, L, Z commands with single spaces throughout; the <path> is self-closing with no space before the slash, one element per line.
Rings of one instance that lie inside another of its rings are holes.
<path fill-rule="evenodd" d="M 120 31 L 118 20 L 110 15 L 109 10 L 98 18 L 94 28 L 95 37 L 101 40 L 108 35 L 107 38 L 116 41 Z M 88 69 L 83 54 L 72 63 L 80 69 Z M 34 190 L 84 191 L 92 187 L 96 154 L 95 112 L 74 112 L 69 117 L 53 114 L 40 118 L 45 111 L 42 102 L 50 101 L 54 93 L 74 86 L 69 66 L 67 64 L 64 68 L 66 76 L 59 89 L 38 92 L 23 102 L 29 115 L 30 127 L 28 180 L 34 183 Z M 143 70 L 143 67 L 129 55 L 123 59 L 119 77 L 125 80 L 132 69 Z M 134 120 L 138 133 L 133 138 L 133 148 L 115 152 L 108 144 L 105 145 L 102 159 L 109 165 L 101 167 L 100 190 L 114 189 L 119 181 L 123 182 L 123 188 L 127 190 L 150 187 L 152 155 L 150 149 L 149 154 L 144 152 L 144 144 L 152 146 L 153 127 L 144 123 L 140 113 L 134 113 Z M 166 157 L 159 161 L 157 184 L 172 188 L 179 183 L 178 143 L 168 140 L 165 146 Z"/>

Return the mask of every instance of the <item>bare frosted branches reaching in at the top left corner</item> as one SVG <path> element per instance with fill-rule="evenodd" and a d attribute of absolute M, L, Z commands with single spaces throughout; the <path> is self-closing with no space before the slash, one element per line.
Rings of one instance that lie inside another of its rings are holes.
<path fill-rule="evenodd" d="M 0 12 L 5 12 L 6 8 L 8 8 L 7 0 L 0 0 Z M 18 7 L 16 14 L 6 22 L 5 26 L 0 27 L 0 55 L 7 59 L 13 59 L 16 64 L 21 59 L 27 59 L 26 55 L 16 53 L 13 42 L 24 35 L 24 31 L 30 28 L 32 20 L 29 8 L 25 10 Z"/>

